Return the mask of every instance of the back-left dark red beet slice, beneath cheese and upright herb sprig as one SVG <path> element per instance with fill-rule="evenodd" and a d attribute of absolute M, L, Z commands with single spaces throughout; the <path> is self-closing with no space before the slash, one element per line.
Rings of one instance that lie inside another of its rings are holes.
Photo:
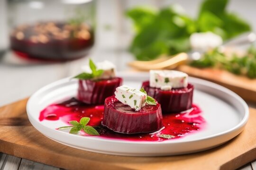
<path fill-rule="evenodd" d="M 87 104 L 104 104 L 105 99 L 114 94 L 122 84 L 122 78 L 108 80 L 79 80 L 77 99 Z"/>

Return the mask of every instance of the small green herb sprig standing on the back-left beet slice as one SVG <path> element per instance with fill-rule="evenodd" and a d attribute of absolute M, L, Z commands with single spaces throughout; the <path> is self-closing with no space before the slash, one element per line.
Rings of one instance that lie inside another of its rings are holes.
<path fill-rule="evenodd" d="M 89 66 L 91 68 L 91 73 L 85 73 L 84 72 L 84 73 L 81 73 L 77 76 L 74 76 L 73 78 L 82 79 L 82 80 L 97 79 L 102 75 L 103 70 L 102 69 L 97 69 L 96 65 L 93 63 L 93 61 L 91 59 L 89 60 Z"/>

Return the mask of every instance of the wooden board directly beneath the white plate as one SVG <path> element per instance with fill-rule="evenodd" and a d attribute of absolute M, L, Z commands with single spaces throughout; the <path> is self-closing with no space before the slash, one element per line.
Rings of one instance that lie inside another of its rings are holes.
<path fill-rule="evenodd" d="M 0 108 L 0 152 L 78 170 L 233 170 L 256 159 L 256 110 L 245 130 L 215 149 L 165 157 L 125 157 L 91 153 L 50 140 L 27 119 L 27 99 Z"/>

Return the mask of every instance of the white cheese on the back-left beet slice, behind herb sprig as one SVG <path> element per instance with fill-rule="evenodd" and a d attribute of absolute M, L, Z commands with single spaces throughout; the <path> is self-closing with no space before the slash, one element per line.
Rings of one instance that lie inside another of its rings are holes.
<path fill-rule="evenodd" d="M 110 79 L 110 78 L 113 78 L 116 76 L 116 66 L 113 63 L 111 63 L 110 61 L 105 60 L 103 62 L 98 62 L 95 65 L 96 65 L 97 69 L 103 70 L 103 73 L 99 78 Z M 91 73 L 91 68 L 88 65 L 82 67 L 82 70 L 85 73 Z"/>

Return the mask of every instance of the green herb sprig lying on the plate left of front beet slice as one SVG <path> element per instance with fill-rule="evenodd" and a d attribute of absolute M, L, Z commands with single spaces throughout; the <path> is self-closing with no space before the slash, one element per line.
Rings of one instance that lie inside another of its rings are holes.
<path fill-rule="evenodd" d="M 97 130 L 95 130 L 95 128 L 91 126 L 86 126 L 89 121 L 90 121 L 90 118 L 87 118 L 87 117 L 80 119 L 80 122 L 73 120 L 69 122 L 73 126 L 59 127 L 58 130 L 72 127 L 69 131 L 69 133 L 71 134 L 77 134 L 80 130 L 83 130 L 88 135 L 100 136 L 100 134 L 97 132 Z"/>

